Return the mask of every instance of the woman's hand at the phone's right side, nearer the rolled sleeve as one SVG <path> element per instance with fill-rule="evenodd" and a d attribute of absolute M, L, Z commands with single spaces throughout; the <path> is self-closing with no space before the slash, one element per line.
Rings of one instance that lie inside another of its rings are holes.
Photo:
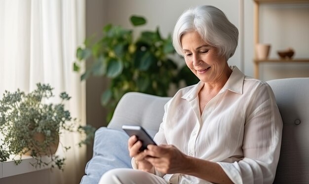
<path fill-rule="evenodd" d="M 157 171 L 164 174 L 182 173 L 186 170 L 188 162 L 187 155 L 182 153 L 173 145 L 149 145 L 145 149 L 147 156 L 145 159 L 149 161 Z"/>

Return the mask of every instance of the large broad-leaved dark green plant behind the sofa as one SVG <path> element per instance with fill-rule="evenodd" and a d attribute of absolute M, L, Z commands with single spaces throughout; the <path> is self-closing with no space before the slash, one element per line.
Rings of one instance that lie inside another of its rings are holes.
<path fill-rule="evenodd" d="M 141 16 L 131 16 L 133 26 L 146 24 Z M 158 96 L 167 96 L 171 84 L 178 86 L 185 79 L 188 84 L 197 78 L 188 72 L 187 66 L 178 69 L 172 59 L 175 53 L 170 35 L 162 37 L 159 29 L 143 31 L 134 39 L 133 30 L 109 24 L 103 28 L 103 36 L 94 44 L 86 39 L 77 48 L 78 61 L 74 71 L 79 71 L 80 62 L 93 60 L 93 65 L 81 75 L 81 80 L 90 75 L 110 78 L 108 89 L 101 96 L 101 104 L 109 109 L 107 121 L 120 98 L 129 91 L 137 91 Z"/>

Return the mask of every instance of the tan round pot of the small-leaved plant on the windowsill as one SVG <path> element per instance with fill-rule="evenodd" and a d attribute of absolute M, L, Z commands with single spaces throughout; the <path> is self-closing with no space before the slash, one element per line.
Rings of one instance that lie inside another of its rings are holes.
<path fill-rule="evenodd" d="M 53 134 L 54 143 L 50 143 L 50 145 L 44 145 L 45 136 L 42 133 L 35 133 L 33 135 L 33 142 L 29 143 L 29 146 L 25 148 L 28 150 L 24 153 L 24 155 L 34 155 L 33 150 L 35 150 L 35 154 L 37 155 L 53 155 L 56 153 L 58 145 L 59 145 L 59 134 Z M 30 150 L 29 150 L 30 149 Z"/>

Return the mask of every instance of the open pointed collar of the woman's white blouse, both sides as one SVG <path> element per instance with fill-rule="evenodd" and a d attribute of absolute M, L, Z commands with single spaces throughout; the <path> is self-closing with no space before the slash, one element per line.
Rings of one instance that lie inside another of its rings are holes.
<path fill-rule="evenodd" d="M 226 84 L 220 90 L 219 93 L 223 93 L 226 90 L 230 90 L 234 93 L 242 94 L 243 89 L 243 80 L 245 75 L 235 66 L 232 67 L 232 74 L 229 77 Z M 200 89 L 204 86 L 204 82 L 199 81 L 197 84 L 193 85 L 193 88 L 190 89 L 187 93 L 185 93 L 181 98 L 191 101 L 198 95 Z"/>

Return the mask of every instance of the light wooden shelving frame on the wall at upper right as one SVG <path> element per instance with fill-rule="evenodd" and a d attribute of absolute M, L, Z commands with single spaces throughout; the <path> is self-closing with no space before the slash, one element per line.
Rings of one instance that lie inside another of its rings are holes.
<path fill-rule="evenodd" d="M 254 0 L 254 45 L 259 43 L 260 25 L 259 25 L 259 6 L 261 3 L 309 3 L 309 0 Z M 254 58 L 257 58 L 256 52 L 254 52 Z M 309 58 L 304 59 L 267 59 L 258 60 L 254 59 L 254 77 L 259 78 L 259 65 L 260 63 L 309 63 Z"/>

